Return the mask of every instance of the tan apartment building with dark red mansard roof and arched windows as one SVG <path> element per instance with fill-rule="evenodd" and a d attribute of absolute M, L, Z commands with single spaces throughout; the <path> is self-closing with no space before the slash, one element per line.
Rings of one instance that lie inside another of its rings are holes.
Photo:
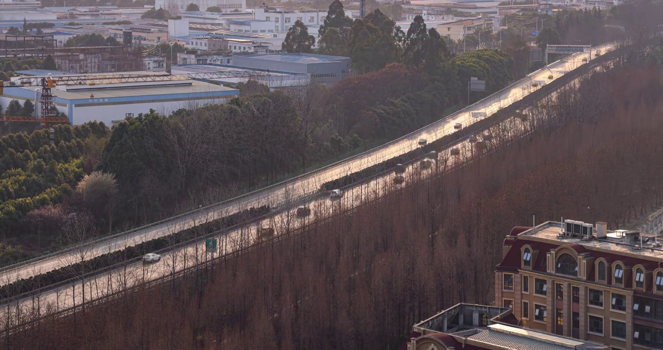
<path fill-rule="evenodd" d="M 495 281 L 496 305 L 524 327 L 611 349 L 663 349 L 655 235 L 573 220 L 514 227 Z"/>

